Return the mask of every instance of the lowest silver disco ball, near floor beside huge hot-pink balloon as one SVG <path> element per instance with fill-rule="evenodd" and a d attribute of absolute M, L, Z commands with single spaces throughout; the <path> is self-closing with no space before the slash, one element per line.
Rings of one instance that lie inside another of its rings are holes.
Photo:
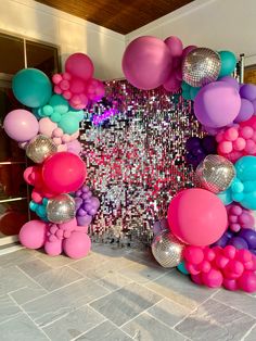
<path fill-rule="evenodd" d="M 165 230 L 157 235 L 151 249 L 155 260 L 163 267 L 175 267 L 182 262 L 184 244 L 170 231 Z"/>

